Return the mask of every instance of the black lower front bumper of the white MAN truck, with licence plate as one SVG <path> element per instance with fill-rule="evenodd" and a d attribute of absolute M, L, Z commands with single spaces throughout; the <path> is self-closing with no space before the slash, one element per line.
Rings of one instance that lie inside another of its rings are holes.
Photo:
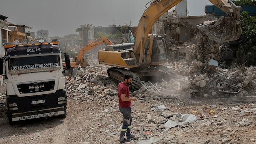
<path fill-rule="evenodd" d="M 17 95 L 7 95 L 7 113 L 9 120 L 20 121 L 26 119 L 36 119 L 54 115 L 65 114 L 67 106 L 66 90 L 58 90 L 56 93 L 47 95 L 35 95 L 28 97 L 18 97 Z"/>

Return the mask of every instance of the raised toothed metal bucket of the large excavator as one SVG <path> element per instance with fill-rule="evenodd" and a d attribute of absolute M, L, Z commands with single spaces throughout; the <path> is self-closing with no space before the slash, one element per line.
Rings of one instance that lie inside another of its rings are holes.
<path fill-rule="evenodd" d="M 197 28 L 216 42 L 237 40 L 242 34 L 241 21 L 234 21 L 231 17 L 221 16 L 217 21 L 208 25 L 197 25 Z"/>

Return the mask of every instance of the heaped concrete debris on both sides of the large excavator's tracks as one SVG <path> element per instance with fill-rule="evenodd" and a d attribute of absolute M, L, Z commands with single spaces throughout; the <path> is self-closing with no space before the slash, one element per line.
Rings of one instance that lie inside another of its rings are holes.
<path fill-rule="evenodd" d="M 219 45 L 213 43 L 211 46 L 205 46 L 208 48 L 206 51 L 213 53 L 211 56 L 203 54 L 203 51 L 196 47 L 197 45 L 194 44 L 188 46 L 191 54 L 197 54 L 197 58 L 191 63 L 187 60 L 181 60 L 169 61 L 164 64 L 164 66 L 176 71 L 177 78 L 168 83 L 163 81 L 162 83 L 153 84 L 142 81 L 141 89 L 131 91 L 130 95 L 137 97 L 139 102 L 173 98 L 187 100 L 193 96 L 204 98 L 231 96 L 236 98 L 230 100 L 238 102 L 255 101 L 251 97 L 254 96 L 256 91 L 256 67 L 242 65 L 224 69 L 214 60 L 218 52 L 212 52 L 213 49 L 219 50 Z M 203 63 L 202 61 L 205 61 L 206 58 L 209 60 Z M 66 76 L 68 97 L 86 102 L 87 100 L 93 100 L 94 95 L 97 94 L 111 100 L 111 96 L 117 95 L 118 83 L 108 78 L 106 66 L 98 65 L 93 60 L 89 63 L 90 66 L 85 69 L 77 68 L 73 70 L 73 72 L 76 72 L 75 75 L 69 74 Z M 245 100 L 245 97 L 250 98 Z"/>

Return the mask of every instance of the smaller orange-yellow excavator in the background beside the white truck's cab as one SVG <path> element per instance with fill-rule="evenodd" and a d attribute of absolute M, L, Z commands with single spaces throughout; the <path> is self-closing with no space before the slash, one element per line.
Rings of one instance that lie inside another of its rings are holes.
<path fill-rule="evenodd" d="M 85 68 L 87 64 L 86 64 L 85 57 L 83 57 L 83 55 L 87 51 L 89 51 L 95 47 L 98 47 L 100 44 L 103 44 L 103 43 L 105 43 L 106 45 L 113 45 L 113 43 L 105 36 L 101 36 L 100 38 L 93 40 L 91 43 L 87 44 L 85 47 L 82 47 L 80 49 L 78 56 L 74 57 L 74 61 L 70 61 L 71 68 L 77 68 L 77 67 L 79 67 L 79 65 L 82 68 Z M 66 66 L 66 63 L 63 62 L 62 65 Z"/>

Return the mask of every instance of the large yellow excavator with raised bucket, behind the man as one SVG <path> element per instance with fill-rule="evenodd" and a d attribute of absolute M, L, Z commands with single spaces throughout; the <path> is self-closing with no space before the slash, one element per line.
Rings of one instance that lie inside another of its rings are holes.
<path fill-rule="evenodd" d="M 167 62 L 168 46 L 165 39 L 153 34 L 152 27 L 161 15 L 182 0 L 152 0 L 146 8 L 139 24 L 135 43 L 123 43 L 106 46 L 98 51 L 100 64 L 112 66 L 108 68 L 108 76 L 121 82 L 124 73 L 133 75 L 131 89 L 137 90 L 143 81 L 165 80 L 169 82 L 175 72 L 161 64 Z M 218 42 L 236 40 L 241 35 L 240 6 L 231 0 L 209 0 L 226 13 L 214 25 L 198 25 L 210 39 Z M 151 35 L 150 35 L 151 33 Z"/>

